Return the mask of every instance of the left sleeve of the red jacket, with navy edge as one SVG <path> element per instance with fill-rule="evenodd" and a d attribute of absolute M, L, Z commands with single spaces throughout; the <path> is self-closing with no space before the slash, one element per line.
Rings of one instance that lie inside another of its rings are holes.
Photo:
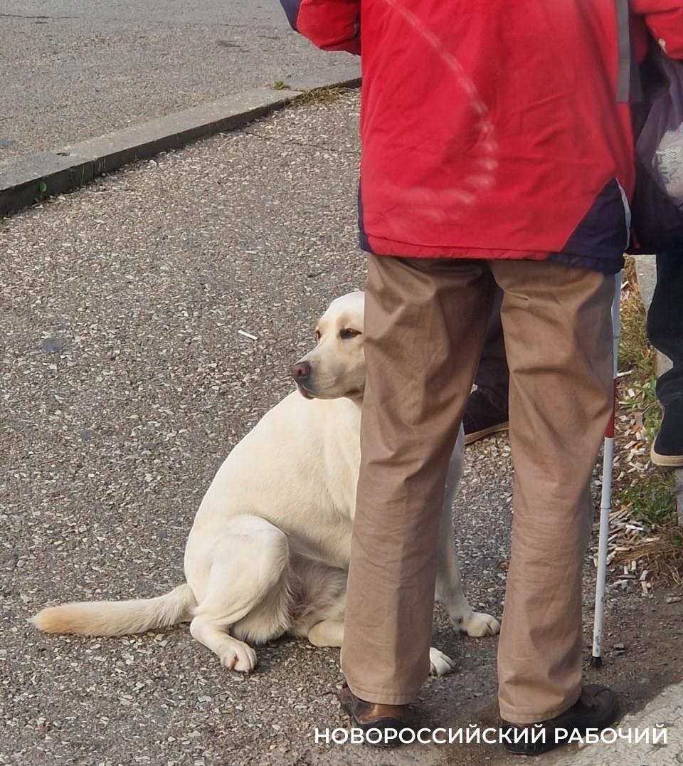
<path fill-rule="evenodd" d="M 361 52 L 361 0 L 280 0 L 292 29 L 324 51 Z"/>

